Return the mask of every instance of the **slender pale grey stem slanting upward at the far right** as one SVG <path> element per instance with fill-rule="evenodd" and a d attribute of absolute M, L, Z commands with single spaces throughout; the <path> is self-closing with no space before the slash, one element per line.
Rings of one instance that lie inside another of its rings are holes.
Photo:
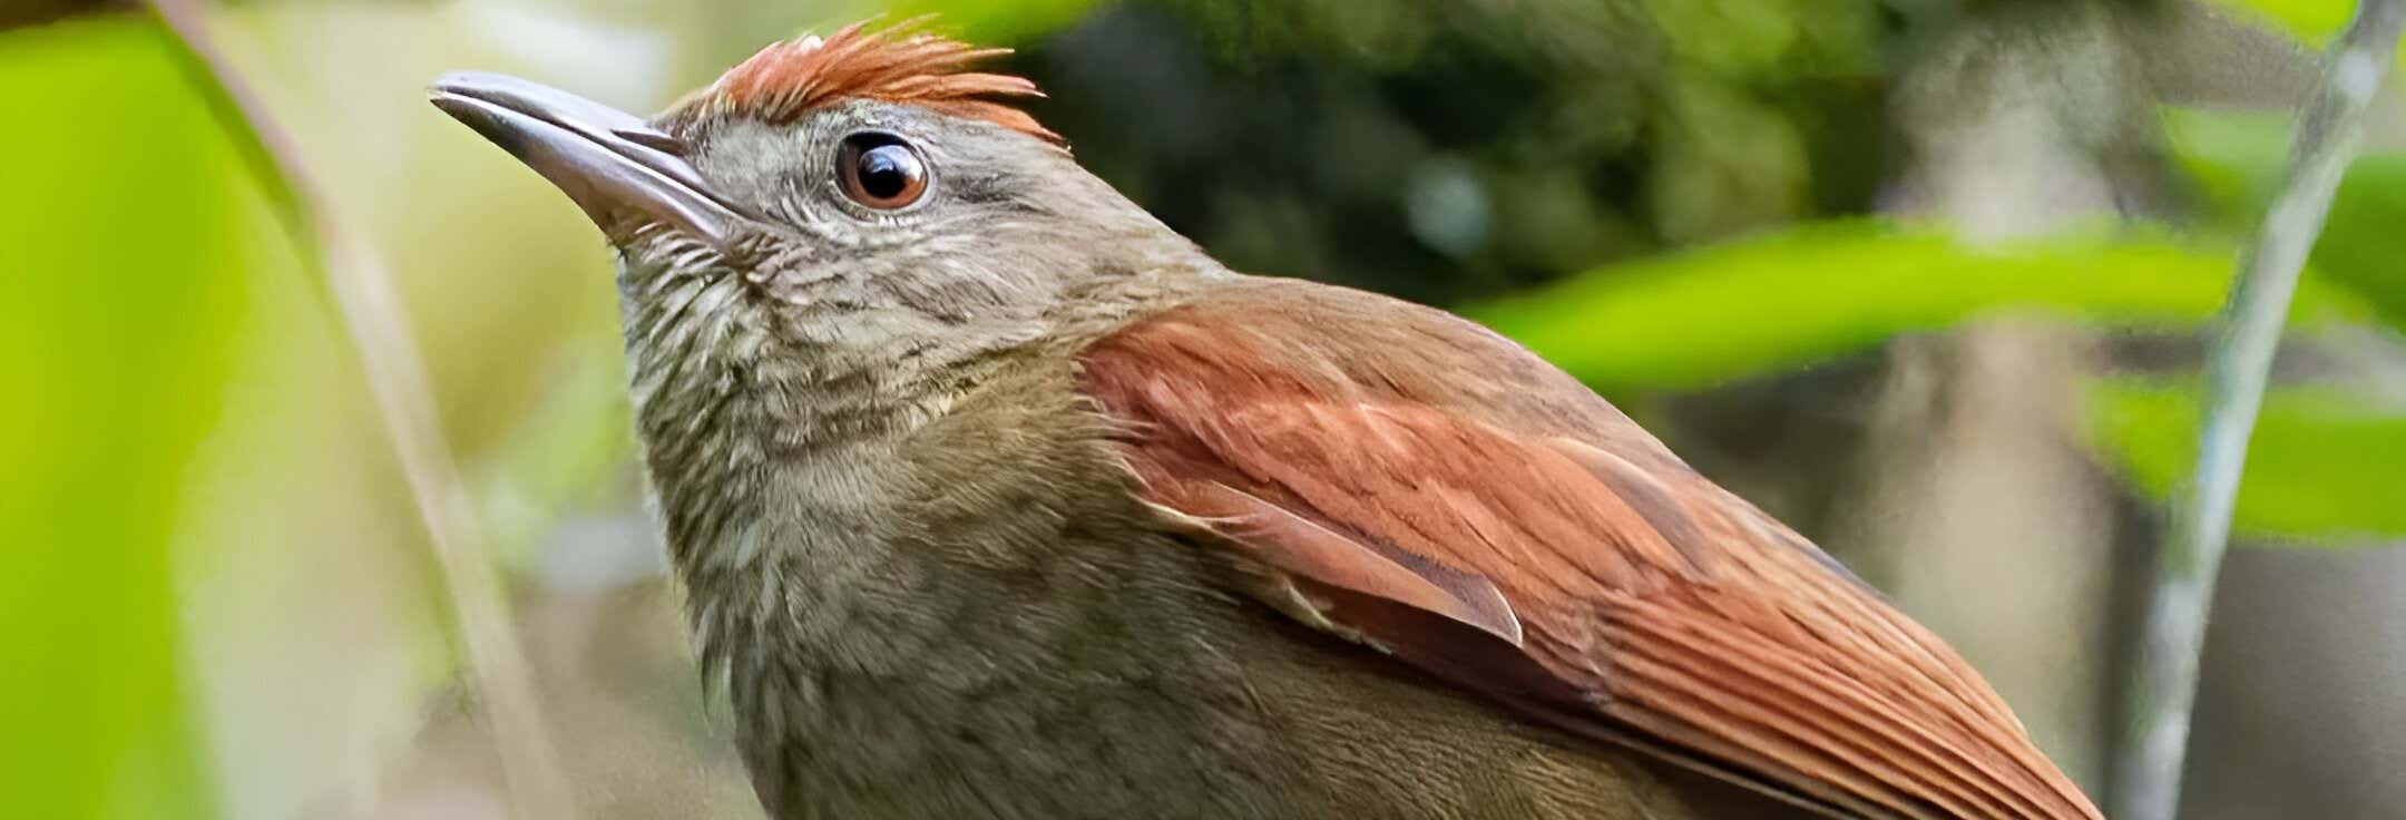
<path fill-rule="evenodd" d="M 2115 762 L 2115 818 L 2173 820 L 2197 702 L 2197 661 L 2214 580 L 2230 546 L 2247 438 L 2264 404 L 2281 322 L 2331 195 L 2355 154 L 2355 137 L 2389 75 L 2406 0 L 2363 0 L 2331 46 L 2322 84 L 2298 115 L 2288 180 L 2240 260 L 2238 284 L 2206 351 L 2206 411 L 2197 469 L 2175 503 L 2173 531 L 2156 558 L 2139 656 L 2129 681 L 2129 724 Z"/>

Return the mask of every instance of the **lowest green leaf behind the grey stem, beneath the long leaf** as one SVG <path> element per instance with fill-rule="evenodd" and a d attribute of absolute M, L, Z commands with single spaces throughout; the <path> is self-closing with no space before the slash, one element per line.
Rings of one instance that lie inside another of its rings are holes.
<path fill-rule="evenodd" d="M 2115 378 L 2088 387 L 2091 442 L 2146 495 L 2170 498 L 2197 464 L 2197 382 Z M 2264 397 L 2235 529 L 2315 543 L 2406 536 L 2396 471 L 2406 411 L 2319 387 Z"/>

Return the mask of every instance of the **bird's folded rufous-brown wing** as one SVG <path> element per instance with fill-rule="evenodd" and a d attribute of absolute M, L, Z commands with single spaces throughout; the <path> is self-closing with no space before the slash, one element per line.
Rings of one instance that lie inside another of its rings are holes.
<path fill-rule="evenodd" d="M 2098 818 L 1934 635 L 1487 329 L 1254 279 L 1080 366 L 1145 500 L 1306 623 L 1838 815 Z"/>

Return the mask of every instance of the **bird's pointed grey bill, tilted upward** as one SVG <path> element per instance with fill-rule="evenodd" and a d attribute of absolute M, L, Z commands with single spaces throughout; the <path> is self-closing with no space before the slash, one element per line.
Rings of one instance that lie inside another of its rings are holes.
<path fill-rule="evenodd" d="M 669 224 L 724 245 L 743 219 L 681 156 L 681 139 L 633 113 L 486 72 L 443 75 L 428 99 L 558 185 L 611 240 Z"/>

